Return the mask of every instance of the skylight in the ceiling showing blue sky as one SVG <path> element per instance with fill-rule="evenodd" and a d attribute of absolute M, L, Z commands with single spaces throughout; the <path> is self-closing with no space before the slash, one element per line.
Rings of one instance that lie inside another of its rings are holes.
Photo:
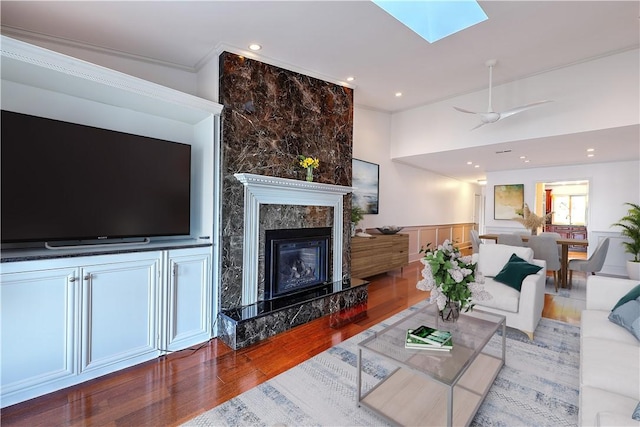
<path fill-rule="evenodd" d="M 488 19 L 475 0 L 372 1 L 429 43 Z"/>

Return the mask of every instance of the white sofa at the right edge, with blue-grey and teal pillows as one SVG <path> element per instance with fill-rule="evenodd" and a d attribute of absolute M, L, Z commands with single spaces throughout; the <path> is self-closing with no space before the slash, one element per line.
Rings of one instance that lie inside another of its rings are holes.
<path fill-rule="evenodd" d="M 580 320 L 580 425 L 640 426 L 631 418 L 640 401 L 640 342 L 608 319 L 637 280 L 587 278 Z"/>

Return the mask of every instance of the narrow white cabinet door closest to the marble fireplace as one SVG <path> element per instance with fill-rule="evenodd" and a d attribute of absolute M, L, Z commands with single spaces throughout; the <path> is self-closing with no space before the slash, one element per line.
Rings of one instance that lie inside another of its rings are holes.
<path fill-rule="evenodd" d="M 181 350 L 211 338 L 211 250 L 169 252 L 166 349 Z"/>

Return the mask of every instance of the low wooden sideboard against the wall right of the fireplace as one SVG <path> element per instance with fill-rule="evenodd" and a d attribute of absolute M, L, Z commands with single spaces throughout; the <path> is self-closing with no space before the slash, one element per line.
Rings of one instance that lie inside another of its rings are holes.
<path fill-rule="evenodd" d="M 365 278 L 409 264 L 408 234 L 351 238 L 351 277 Z"/>

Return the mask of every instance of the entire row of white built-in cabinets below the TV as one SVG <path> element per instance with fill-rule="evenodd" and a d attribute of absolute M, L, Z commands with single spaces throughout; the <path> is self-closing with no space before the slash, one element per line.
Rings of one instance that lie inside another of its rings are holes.
<path fill-rule="evenodd" d="M 0 401 L 211 338 L 211 246 L 0 264 Z"/>

